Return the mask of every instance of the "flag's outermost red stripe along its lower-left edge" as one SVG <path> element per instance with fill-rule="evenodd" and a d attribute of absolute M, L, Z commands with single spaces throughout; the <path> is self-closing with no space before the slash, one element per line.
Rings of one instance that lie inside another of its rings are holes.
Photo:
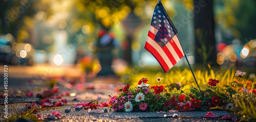
<path fill-rule="evenodd" d="M 160 66 L 163 68 L 164 73 L 166 73 L 169 70 L 169 67 L 167 64 L 164 62 L 164 59 L 162 56 L 158 53 L 158 51 L 151 46 L 149 43 L 146 42 L 145 47 L 144 47 L 148 52 L 150 52 L 156 59 L 157 62 L 160 64 Z"/>

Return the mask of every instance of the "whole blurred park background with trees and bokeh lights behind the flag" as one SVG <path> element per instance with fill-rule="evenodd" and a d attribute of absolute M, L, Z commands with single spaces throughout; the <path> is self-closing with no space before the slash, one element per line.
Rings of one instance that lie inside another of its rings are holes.
<path fill-rule="evenodd" d="M 125 77 L 163 72 L 144 49 L 157 0 L 3 0 L 0 64 L 9 77 Z M 254 0 L 162 1 L 194 69 L 256 67 Z M 175 68 L 187 68 L 182 58 Z M 172 69 L 171 69 L 172 70 Z M 255 75 L 255 74 L 254 74 Z"/>

